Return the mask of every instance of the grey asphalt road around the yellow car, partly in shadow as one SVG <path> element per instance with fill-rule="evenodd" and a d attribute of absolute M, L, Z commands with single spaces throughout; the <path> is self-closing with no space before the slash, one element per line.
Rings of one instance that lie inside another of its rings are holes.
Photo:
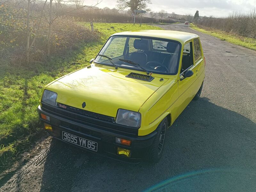
<path fill-rule="evenodd" d="M 161 27 L 198 34 L 206 58 L 201 98 L 168 130 L 162 159 L 124 164 L 47 138 L 0 191 L 256 191 L 256 52 Z"/>

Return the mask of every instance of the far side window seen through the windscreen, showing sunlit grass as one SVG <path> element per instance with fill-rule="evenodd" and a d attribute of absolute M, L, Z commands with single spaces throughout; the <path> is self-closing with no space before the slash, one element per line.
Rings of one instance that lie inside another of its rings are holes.
<path fill-rule="evenodd" d="M 126 37 L 115 37 L 111 44 L 109 44 L 108 48 L 104 52 L 110 58 L 120 57 L 124 53 L 124 45 L 125 45 Z M 117 46 L 118 45 L 118 46 Z M 106 60 L 106 58 L 101 58 L 102 60 Z"/>

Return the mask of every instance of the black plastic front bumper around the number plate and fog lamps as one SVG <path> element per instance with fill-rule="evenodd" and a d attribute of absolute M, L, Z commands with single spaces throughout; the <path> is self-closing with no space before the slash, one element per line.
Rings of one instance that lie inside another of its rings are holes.
<path fill-rule="evenodd" d="M 70 114 L 70 112 L 67 112 L 67 116 L 63 116 L 60 115 L 60 113 L 58 114 L 54 111 L 50 111 L 49 109 L 41 107 L 40 105 L 38 106 L 37 110 L 41 123 L 46 123 L 52 126 L 52 131 L 46 130 L 46 132 L 52 137 L 62 140 L 62 131 L 64 131 L 87 140 L 92 140 L 98 143 L 97 152 L 77 146 L 65 140 L 62 141 L 78 148 L 84 149 L 86 151 L 97 153 L 99 155 L 107 156 L 112 159 L 123 161 L 126 163 L 139 163 L 148 152 L 149 148 L 151 148 L 154 138 L 156 136 L 156 131 L 146 136 L 130 136 L 129 134 L 125 133 L 120 134 L 120 132 L 108 131 L 108 129 L 104 129 L 102 122 L 100 126 L 93 126 L 92 124 L 87 124 L 81 122 L 80 120 L 70 118 L 72 115 L 74 115 L 73 113 Z M 50 121 L 42 119 L 40 113 L 49 116 Z M 76 116 L 79 115 L 76 114 Z M 95 122 L 97 123 L 97 120 L 95 120 Z M 131 146 L 125 146 L 116 143 L 116 137 L 131 140 Z M 117 155 L 118 147 L 131 150 L 131 157 Z"/>

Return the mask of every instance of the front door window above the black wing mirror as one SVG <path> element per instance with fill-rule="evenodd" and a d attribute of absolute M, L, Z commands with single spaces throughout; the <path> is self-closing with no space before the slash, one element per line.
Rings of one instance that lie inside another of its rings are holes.
<path fill-rule="evenodd" d="M 192 42 L 184 45 L 180 73 L 193 65 Z"/>

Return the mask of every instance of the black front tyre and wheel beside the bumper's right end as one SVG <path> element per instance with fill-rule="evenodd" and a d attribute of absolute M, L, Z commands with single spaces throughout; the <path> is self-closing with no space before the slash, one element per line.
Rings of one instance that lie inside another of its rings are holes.
<path fill-rule="evenodd" d="M 156 128 L 156 137 L 152 144 L 152 147 L 149 149 L 147 153 L 147 159 L 151 163 L 156 163 L 159 161 L 163 154 L 164 150 L 164 140 L 167 130 L 167 118 L 165 117 L 163 121 Z"/>

